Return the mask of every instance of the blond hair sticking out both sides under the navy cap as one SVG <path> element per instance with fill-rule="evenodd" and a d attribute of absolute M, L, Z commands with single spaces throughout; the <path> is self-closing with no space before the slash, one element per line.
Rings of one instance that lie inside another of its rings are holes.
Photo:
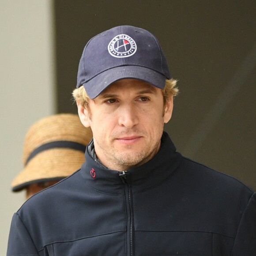
<path fill-rule="evenodd" d="M 179 89 L 176 85 L 177 80 L 166 79 L 166 86 L 162 89 L 164 104 L 166 104 L 168 98 L 172 96 L 174 97 L 178 94 Z M 83 86 L 80 86 L 79 88 L 73 90 L 72 95 L 75 102 L 79 102 L 79 104 L 81 104 L 85 108 L 87 107 L 90 97 L 88 96 Z"/>

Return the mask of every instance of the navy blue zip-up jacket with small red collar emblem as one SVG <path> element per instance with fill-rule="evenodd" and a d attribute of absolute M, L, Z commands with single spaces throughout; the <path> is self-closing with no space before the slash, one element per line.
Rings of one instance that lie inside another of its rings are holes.
<path fill-rule="evenodd" d="M 15 213 L 8 256 L 256 256 L 256 195 L 182 157 L 166 133 L 127 173 L 88 148 L 86 159 Z"/>

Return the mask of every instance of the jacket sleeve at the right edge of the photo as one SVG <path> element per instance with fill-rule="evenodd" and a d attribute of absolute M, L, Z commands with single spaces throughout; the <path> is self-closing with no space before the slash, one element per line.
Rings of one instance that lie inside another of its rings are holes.
<path fill-rule="evenodd" d="M 256 193 L 250 198 L 238 226 L 232 256 L 256 256 Z"/>

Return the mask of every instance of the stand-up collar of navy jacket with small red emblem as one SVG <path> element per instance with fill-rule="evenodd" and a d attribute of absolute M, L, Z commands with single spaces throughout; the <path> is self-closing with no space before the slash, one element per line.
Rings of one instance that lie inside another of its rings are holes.
<path fill-rule="evenodd" d="M 123 194 L 124 183 L 120 178 L 120 172 L 107 169 L 99 162 L 94 154 L 92 142 L 86 149 L 85 158 L 86 162 L 81 167 L 81 171 L 91 188 L 113 195 Z M 126 181 L 132 186 L 133 193 L 155 187 L 172 175 L 179 166 L 181 158 L 168 134 L 163 132 L 158 153 L 142 166 L 129 169 Z"/>

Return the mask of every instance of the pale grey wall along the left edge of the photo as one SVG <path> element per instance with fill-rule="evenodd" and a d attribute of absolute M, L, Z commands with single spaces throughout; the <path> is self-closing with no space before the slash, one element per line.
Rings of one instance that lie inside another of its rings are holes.
<path fill-rule="evenodd" d="M 53 9 L 50 0 L 0 0 L 0 255 L 11 217 L 25 201 L 11 192 L 23 169 L 23 141 L 35 121 L 55 112 Z"/>

